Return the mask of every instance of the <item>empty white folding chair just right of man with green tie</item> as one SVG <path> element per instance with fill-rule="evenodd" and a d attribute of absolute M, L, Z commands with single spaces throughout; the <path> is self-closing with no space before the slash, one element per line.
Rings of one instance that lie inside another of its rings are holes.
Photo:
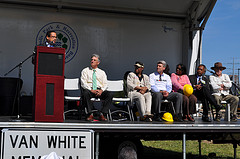
<path fill-rule="evenodd" d="M 123 92 L 124 91 L 123 80 L 116 80 L 116 81 L 108 80 L 108 89 L 107 90 L 110 92 Z M 125 104 L 123 104 L 123 106 L 126 106 L 127 111 L 125 111 L 123 109 L 117 109 L 117 110 L 111 111 L 109 109 L 109 117 L 110 117 L 111 121 L 112 121 L 112 114 L 114 114 L 114 113 L 128 114 L 129 119 L 131 121 L 134 120 L 133 113 L 132 113 L 132 110 L 130 109 L 130 105 L 129 105 L 129 103 L 131 103 L 131 98 L 129 98 L 129 97 L 121 97 L 121 98 L 114 97 L 112 101 L 113 102 L 124 102 Z"/>

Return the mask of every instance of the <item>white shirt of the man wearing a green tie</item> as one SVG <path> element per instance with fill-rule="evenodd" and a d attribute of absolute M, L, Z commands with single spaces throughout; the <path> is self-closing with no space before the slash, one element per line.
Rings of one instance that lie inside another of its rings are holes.
<path fill-rule="evenodd" d="M 96 78 L 97 78 L 97 88 L 105 91 L 107 89 L 107 75 L 106 73 L 96 68 Z M 92 75 L 93 69 L 91 67 L 87 67 L 81 72 L 81 86 L 84 89 L 91 90 L 92 89 Z"/>

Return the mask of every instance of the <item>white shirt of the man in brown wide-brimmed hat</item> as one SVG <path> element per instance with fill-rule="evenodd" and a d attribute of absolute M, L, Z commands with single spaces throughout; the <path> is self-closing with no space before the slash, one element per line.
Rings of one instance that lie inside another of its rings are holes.
<path fill-rule="evenodd" d="M 229 95 L 229 89 L 232 87 L 232 82 L 227 74 L 222 74 L 220 77 L 217 75 L 210 76 L 210 84 L 213 87 L 213 95 Z M 221 84 L 224 85 L 225 89 L 219 90 Z"/>

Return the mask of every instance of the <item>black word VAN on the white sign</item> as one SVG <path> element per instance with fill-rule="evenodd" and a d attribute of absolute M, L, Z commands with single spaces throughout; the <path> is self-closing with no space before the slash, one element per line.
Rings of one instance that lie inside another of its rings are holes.
<path fill-rule="evenodd" d="M 13 148 L 38 148 L 38 136 L 32 136 L 30 135 L 28 138 L 26 138 L 25 135 L 23 136 L 13 136 L 10 135 L 10 141 Z"/>

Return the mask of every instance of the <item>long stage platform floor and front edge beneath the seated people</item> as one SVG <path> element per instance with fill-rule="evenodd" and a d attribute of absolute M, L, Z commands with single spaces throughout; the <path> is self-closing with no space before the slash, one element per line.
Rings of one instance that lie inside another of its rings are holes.
<path fill-rule="evenodd" d="M 15 121 L 13 117 L 0 117 L 1 128 L 42 128 L 42 129 L 93 129 L 98 132 L 235 132 L 240 133 L 240 120 L 227 122 L 203 122 L 201 117 L 195 117 L 195 122 L 143 122 L 143 121 L 111 121 L 87 122 L 85 120 L 65 120 L 57 122 L 33 122 L 30 117 L 23 121 Z"/>

